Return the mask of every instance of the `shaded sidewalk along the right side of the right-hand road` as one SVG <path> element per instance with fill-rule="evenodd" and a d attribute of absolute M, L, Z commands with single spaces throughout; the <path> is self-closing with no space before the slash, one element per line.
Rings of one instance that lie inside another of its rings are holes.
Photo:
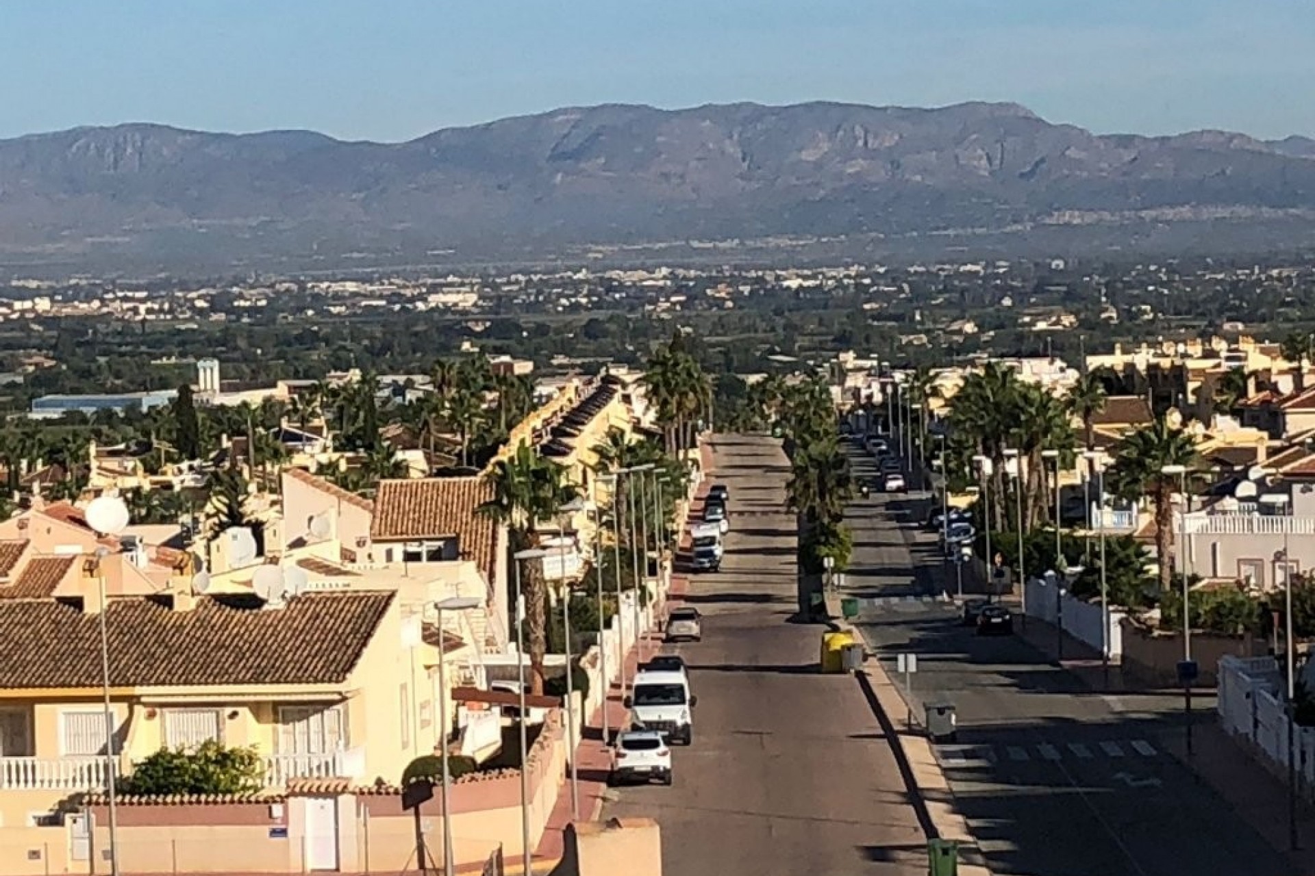
<path fill-rule="evenodd" d="M 1056 655 L 1059 640 L 1053 624 L 1030 617 L 1026 630 L 1022 626 L 1015 629 L 1039 651 L 1051 658 Z M 1106 679 L 1099 649 L 1068 634 L 1064 636 L 1061 666 L 1095 692 L 1144 690 L 1124 684 L 1123 672 L 1116 665 L 1110 666 Z M 1302 848 L 1295 852 L 1287 851 L 1286 783 L 1265 770 L 1241 742 L 1228 735 L 1215 720 L 1214 711 L 1207 716 L 1198 716 L 1193 725 L 1190 756 L 1186 753 L 1186 741 L 1180 734 L 1166 734 L 1160 742 L 1215 793 L 1227 800 L 1243 821 L 1270 846 L 1287 852 L 1293 867 L 1291 876 L 1315 876 L 1315 808 L 1304 800 L 1298 802 L 1297 825 Z"/>

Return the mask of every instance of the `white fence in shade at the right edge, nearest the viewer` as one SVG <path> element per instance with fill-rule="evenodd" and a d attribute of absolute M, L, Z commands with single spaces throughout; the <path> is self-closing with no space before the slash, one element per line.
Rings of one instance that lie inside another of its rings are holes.
<path fill-rule="evenodd" d="M 1219 725 L 1249 743 L 1252 755 L 1287 780 L 1287 709 L 1283 675 L 1272 657 L 1224 657 L 1219 661 Z M 1299 791 L 1315 791 L 1315 728 L 1297 726 L 1293 739 Z"/>

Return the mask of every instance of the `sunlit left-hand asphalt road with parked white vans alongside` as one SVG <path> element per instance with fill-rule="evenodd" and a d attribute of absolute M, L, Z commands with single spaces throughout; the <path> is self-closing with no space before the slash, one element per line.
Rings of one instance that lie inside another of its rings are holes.
<path fill-rule="evenodd" d="M 855 679 L 819 675 L 822 628 L 792 623 L 794 519 L 778 443 L 718 436 L 731 491 L 722 570 L 693 579 L 704 641 L 679 645 L 698 695 L 675 784 L 615 791 L 606 817 L 661 826 L 668 876 L 913 876 L 926 841 Z"/>

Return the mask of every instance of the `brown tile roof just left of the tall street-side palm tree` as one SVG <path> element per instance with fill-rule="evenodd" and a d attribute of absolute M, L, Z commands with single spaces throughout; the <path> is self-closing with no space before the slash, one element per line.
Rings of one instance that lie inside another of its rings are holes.
<path fill-rule="evenodd" d="M 476 510 L 493 498 L 481 477 L 380 481 L 375 494 L 375 541 L 456 536 L 462 559 L 493 580 L 497 524 Z"/>

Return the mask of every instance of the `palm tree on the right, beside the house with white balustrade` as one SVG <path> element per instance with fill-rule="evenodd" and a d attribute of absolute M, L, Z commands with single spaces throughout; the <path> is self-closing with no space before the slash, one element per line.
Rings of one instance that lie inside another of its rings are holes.
<path fill-rule="evenodd" d="M 1165 474 L 1165 466 L 1190 468 L 1197 462 L 1197 444 L 1182 428 L 1169 426 L 1161 415 L 1155 423 L 1126 435 L 1114 445 L 1114 465 L 1106 475 L 1110 493 L 1128 502 L 1151 496 L 1155 507 L 1156 562 L 1160 587 L 1170 580 L 1169 549 L 1173 545 L 1172 496 L 1178 477 Z M 1184 496 L 1186 499 L 1186 496 Z"/>

